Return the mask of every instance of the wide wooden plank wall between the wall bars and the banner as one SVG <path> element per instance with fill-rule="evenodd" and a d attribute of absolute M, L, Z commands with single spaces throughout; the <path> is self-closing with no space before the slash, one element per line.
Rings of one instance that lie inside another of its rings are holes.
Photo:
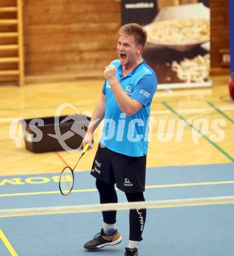
<path fill-rule="evenodd" d="M 120 2 L 24 0 L 23 11 L 26 79 L 103 77 L 117 58 Z"/>

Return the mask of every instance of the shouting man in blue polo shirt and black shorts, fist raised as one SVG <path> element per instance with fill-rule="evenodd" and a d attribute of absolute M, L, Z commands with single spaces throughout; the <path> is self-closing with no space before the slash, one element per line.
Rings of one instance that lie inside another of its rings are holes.
<path fill-rule="evenodd" d="M 144 201 L 146 154 L 148 147 L 150 105 L 157 90 L 155 72 L 142 58 L 147 33 L 138 24 L 126 24 L 119 30 L 119 59 L 106 66 L 105 83 L 83 146 L 92 147 L 93 133 L 104 119 L 104 131 L 94 158 L 91 175 L 96 177 L 100 203 L 117 203 L 117 188 L 125 192 L 128 202 Z M 103 228 L 86 249 L 100 249 L 119 244 L 116 211 L 102 212 Z M 138 245 L 146 221 L 146 209 L 130 210 L 130 236 L 125 255 L 138 256 Z"/>

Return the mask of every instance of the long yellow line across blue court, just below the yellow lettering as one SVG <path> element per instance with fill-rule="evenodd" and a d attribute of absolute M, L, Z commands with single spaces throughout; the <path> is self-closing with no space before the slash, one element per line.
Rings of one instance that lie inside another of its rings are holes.
<path fill-rule="evenodd" d="M 212 182 L 191 182 L 191 183 L 178 183 L 178 184 L 162 184 L 162 185 L 147 185 L 148 188 L 173 188 L 182 186 L 208 186 L 208 185 L 220 185 L 220 184 L 234 184 L 234 181 L 212 181 Z M 118 188 L 116 188 L 118 190 Z M 74 189 L 72 193 L 81 192 L 96 192 L 96 188 L 86 188 L 86 189 Z M 0 198 L 10 197 L 10 196 L 34 196 L 34 195 L 45 195 L 45 194 L 60 194 L 59 190 L 56 191 L 41 191 L 41 192 L 24 192 L 24 193 L 11 193 L 11 194 L 0 194 Z"/>

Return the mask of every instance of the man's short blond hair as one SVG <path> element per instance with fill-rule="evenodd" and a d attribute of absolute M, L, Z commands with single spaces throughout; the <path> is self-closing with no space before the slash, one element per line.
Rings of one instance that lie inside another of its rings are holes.
<path fill-rule="evenodd" d="M 128 23 L 119 29 L 119 35 L 133 35 L 136 41 L 136 45 L 142 45 L 142 49 L 146 45 L 147 32 L 137 23 Z"/>

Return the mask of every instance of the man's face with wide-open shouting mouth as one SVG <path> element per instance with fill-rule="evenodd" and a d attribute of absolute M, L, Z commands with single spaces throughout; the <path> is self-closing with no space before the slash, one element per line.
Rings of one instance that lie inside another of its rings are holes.
<path fill-rule="evenodd" d="M 136 45 L 133 35 L 120 35 L 117 44 L 117 53 L 123 66 L 136 62 L 138 54 L 142 51 L 141 45 Z"/>

